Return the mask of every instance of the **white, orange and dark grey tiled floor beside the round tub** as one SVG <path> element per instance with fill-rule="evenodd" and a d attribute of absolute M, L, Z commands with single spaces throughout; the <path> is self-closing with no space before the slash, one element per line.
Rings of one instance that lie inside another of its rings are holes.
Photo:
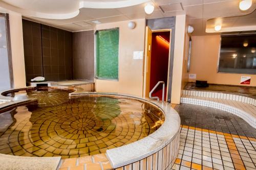
<path fill-rule="evenodd" d="M 181 104 L 180 148 L 173 169 L 255 169 L 256 130 L 209 107 Z"/>

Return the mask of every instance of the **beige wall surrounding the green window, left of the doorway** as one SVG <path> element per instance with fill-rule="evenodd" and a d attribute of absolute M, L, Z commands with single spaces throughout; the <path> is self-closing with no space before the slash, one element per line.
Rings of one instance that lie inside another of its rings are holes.
<path fill-rule="evenodd" d="M 119 80 L 95 79 L 97 92 L 119 92 L 142 96 L 143 60 L 134 60 L 134 51 L 144 51 L 145 19 L 133 20 L 136 28 L 127 27 L 129 21 L 105 23 L 96 30 L 119 28 Z"/>

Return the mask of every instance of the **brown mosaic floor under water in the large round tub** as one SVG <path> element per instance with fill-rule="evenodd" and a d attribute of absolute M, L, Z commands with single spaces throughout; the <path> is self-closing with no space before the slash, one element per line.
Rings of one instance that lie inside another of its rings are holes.
<path fill-rule="evenodd" d="M 156 131 L 162 112 L 137 100 L 82 96 L 0 114 L 0 153 L 73 158 L 105 153 Z"/>

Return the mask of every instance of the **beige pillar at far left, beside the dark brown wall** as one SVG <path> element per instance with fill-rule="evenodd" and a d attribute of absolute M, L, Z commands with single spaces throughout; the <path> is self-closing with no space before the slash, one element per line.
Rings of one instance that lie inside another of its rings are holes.
<path fill-rule="evenodd" d="M 9 13 L 14 88 L 26 86 L 22 15 Z"/>

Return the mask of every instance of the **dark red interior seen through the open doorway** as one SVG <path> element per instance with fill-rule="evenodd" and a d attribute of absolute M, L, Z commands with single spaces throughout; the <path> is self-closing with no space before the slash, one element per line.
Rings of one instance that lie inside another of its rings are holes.
<path fill-rule="evenodd" d="M 168 76 L 169 42 L 170 32 L 156 32 L 152 34 L 150 90 L 153 89 L 158 81 L 164 81 L 165 96 Z M 162 85 L 155 90 L 153 96 L 158 96 L 162 99 Z"/>

